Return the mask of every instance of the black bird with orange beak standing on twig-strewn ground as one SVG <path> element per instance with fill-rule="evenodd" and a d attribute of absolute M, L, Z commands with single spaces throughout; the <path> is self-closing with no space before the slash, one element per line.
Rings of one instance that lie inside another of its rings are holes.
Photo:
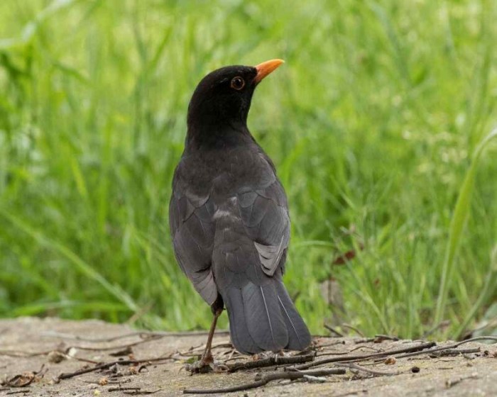
<path fill-rule="evenodd" d="M 287 196 L 247 127 L 256 86 L 282 64 L 214 70 L 188 106 L 169 223 L 175 258 L 214 315 L 198 367 L 213 365 L 212 337 L 224 306 L 231 342 L 243 354 L 305 350 L 311 342 L 283 284 Z"/>

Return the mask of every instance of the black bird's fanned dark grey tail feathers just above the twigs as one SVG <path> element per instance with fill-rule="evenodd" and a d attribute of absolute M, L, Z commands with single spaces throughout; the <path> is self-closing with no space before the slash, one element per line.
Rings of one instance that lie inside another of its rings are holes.
<path fill-rule="evenodd" d="M 231 341 L 246 354 L 282 349 L 304 350 L 310 332 L 279 279 L 258 286 L 249 282 L 223 294 L 229 315 Z"/>

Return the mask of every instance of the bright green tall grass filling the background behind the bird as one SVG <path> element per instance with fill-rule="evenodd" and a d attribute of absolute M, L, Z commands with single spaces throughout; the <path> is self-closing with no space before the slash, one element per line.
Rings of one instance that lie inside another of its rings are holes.
<path fill-rule="evenodd" d="M 305 3 L 0 2 L 0 316 L 207 328 L 168 231 L 187 104 L 212 69 L 280 57 L 249 127 L 312 331 L 329 277 L 369 335 L 474 328 L 497 300 L 496 2 Z"/>

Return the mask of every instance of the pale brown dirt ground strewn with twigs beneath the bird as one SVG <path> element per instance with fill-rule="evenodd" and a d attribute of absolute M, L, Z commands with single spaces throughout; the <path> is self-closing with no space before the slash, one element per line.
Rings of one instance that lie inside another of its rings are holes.
<path fill-rule="evenodd" d="M 135 333 L 129 335 L 131 332 Z M 123 335 L 129 336 L 119 337 Z M 119 338 L 109 339 L 113 337 Z M 104 341 L 97 341 L 102 339 Z M 268 367 L 190 376 L 182 367 L 190 356 L 200 354 L 205 339 L 205 335 L 195 334 L 137 335 L 136 330 L 124 325 L 96 320 L 0 320 L 0 383 L 3 383 L 0 396 L 183 396 L 185 388 L 225 388 L 253 382 L 257 373 L 282 373 L 281 368 Z M 315 338 L 319 347 L 316 359 L 378 354 L 416 347 L 420 343 L 320 337 Z M 437 347 L 449 344 L 437 343 Z M 224 362 L 253 361 L 253 357 L 244 357 L 231 350 L 226 332 L 216 335 L 214 346 L 217 346 L 214 349 L 216 357 Z M 471 342 L 457 347 L 466 351 L 477 348 L 479 352 L 442 357 L 430 357 L 425 353 L 398 357 L 397 354 L 397 359 L 387 360 L 391 364 L 386 364 L 385 357 L 376 361 L 374 358 L 360 359 L 354 362 L 362 369 L 346 368 L 342 375 L 312 379 L 322 383 L 271 381 L 260 388 L 211 396 L 497 396 L 497 345 Z M 121 356 L 111 356 L 116 352 Z M 150 364 L 114 365 L 102 371 L 90 371 L 94 363 L 152 358 L 157 360 Z M 58 359 L 62 361 L 56 362 Z M 313 369 L 336 365 L 329 363 Z M 416 372 L 413 372 L 413 367 L 419 371 L 414 369 Z M 62 373 L 84 368 L 89 372 L 57 380 Z M 395 375 L 369 374 L 363 369 Z M 22 384 L 27 386 L 13 387 Z"/>

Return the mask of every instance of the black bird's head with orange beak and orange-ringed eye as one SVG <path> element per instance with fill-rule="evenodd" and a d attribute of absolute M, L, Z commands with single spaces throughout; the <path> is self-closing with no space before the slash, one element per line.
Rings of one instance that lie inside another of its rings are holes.
<path fill-rule="evenodd" d="M 207 74 L 188 106 L 189 133 L 245 126 L 254 89 L 282 63 L 283 60 L 270 60 L 255 67 L 226 66 Z"/>

